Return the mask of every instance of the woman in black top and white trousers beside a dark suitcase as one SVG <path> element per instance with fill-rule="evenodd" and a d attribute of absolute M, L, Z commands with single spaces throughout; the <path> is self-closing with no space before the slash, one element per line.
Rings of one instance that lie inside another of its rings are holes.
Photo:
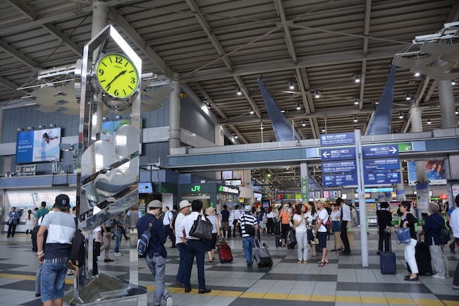
<path fill-rule="evenodd" d="M 403 201 L 400 204 L 400 214 L 402 214 L 402 218 L 400 221 L 400 228 L 410 228 L 411 234 L 411 241 L 410 243 L 403 243 L 405 245 L 405 260 L 408 262 L 408 266 L 410 266 L 411 274 L 405 276 L 405 281 L 417 281 L 417 274 L 419 270 L 417 269 L 416 263 L 416 245 L 417 245 L 417 235 L 415 232 L 415 224 L 417 223 L 417 219 L 415 216 L 409 213 L 410 212 L 410 202 Z"/>

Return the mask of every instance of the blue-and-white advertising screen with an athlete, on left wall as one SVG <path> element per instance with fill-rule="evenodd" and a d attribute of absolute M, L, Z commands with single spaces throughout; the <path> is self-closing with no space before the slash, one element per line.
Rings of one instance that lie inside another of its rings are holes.
<path fill-rule="evenodd" d="M 16 164 L 27 164 L 59 159 L 61 128 L 18 132 Z"/>

